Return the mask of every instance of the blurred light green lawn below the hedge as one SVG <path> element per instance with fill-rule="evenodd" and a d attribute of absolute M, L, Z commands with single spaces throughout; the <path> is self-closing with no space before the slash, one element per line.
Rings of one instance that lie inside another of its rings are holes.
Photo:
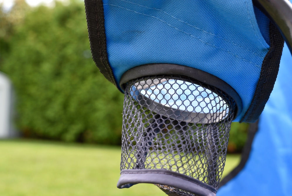
<path fill-rule="evenodd" d="M 0 141 L 1 196 L 162 196 L 152 184 L 118 189 L 120 147 Z M 223 175 L 238 163 L 227 155 Z"/>

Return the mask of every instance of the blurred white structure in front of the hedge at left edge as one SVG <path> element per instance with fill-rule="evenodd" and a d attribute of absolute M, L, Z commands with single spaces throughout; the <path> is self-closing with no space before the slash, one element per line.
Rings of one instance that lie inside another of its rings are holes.
<path fill-rule="evenodd" d="M 0 138 L 8 138 L 15 135 L 12 129 L 12 88 L 6 75 L 0 72 Z"/>

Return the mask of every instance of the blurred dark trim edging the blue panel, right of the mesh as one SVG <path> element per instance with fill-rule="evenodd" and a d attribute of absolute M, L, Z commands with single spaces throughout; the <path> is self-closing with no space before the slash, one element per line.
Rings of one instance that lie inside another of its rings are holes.
<path fill-rule="evenodd" d="M 243 151 L 241 153 L 241 160 L 240 163 L 238 164 L 238 166 L 236 166 L 236 168 L 234 168 L 227 176 L 225 176 L 219 183 L 219 187 L 224 186 L 227 182 L 229 182 L 232 178 L 234 178 L 237 174 L 239 174 L 239 172 L 244 168 L 246 162 L 248 161 L 249 155 L 250 155 L 250 151 L 251 151 L 251 147 L 253 144 L 253 139 L 255 137 L 255 134 L 258 132 L 258 122 L 252 123 L 249 126 L 248 129 L 248 138 L 246 141 L 246 144 L 243 148 Z"/>

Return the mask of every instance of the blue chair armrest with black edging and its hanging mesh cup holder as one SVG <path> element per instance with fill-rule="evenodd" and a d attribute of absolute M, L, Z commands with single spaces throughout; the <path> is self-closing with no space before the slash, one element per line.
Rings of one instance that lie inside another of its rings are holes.
<path fill-rule="evenodd" d="M 85 10 L 93 60 L 125 93 L 118 188 L 216 195 L 231 122 L 258 120 L 284 40 L 291 51 L 291 4 L 85 0 Z"/>

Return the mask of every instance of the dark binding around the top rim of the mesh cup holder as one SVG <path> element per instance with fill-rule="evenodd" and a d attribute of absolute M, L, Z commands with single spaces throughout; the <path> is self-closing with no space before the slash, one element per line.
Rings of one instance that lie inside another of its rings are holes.
<path fill-rule="evenodd" d="M 239 94 L 225 81 L 222 79 L 198 70 L 192 67 L 186 67 L 183 65 L 175 64 L 146 64 L 134 67 L 127 72 L 125 72 L 120 80 L 120 88 L 124 91 L 126 83 L 132 79 L 137 79 L 144 76 L 153 76 L 153 75 L 179 75 L 186 76 L 192 79 L 198 80 L 205 84 L 216 87 L 217 89 L 222 90 L 224 93 L 227 93 L 236 103 L 237 111 L 234 118 L 236 118 L 242 111 L 242 101 Z"/>

